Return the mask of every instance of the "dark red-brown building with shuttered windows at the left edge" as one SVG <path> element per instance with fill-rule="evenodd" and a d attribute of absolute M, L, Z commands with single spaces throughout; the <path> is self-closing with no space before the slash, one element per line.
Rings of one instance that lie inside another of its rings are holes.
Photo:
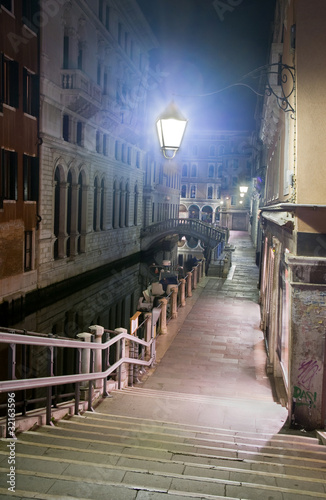
<path fill-rule="evenodd" d="M 0 302 L 37 286 L 39 39 L 28 2 L 0 2 Z"/>

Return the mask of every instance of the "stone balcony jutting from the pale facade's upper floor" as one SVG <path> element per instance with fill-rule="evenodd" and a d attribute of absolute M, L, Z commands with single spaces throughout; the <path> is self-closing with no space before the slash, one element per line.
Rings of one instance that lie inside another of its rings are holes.
<path fill-rule="evenodd" d="M 86 119 L 94 116 L 102 106 L 102 90 L 99 85 L 79 69 L 61 71 L 62 103 L 74 113 Z"/>

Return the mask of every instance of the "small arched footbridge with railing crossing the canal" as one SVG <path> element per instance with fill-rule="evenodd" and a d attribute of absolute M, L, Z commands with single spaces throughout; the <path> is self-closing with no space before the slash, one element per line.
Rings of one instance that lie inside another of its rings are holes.
<path fill-rule="evenodd" d="M 227 243 L 228 230 L 212 227 L 197 219 L 168 219 L 145 227 L 141 231 L 141 250 L 149 250 L 155 243 L 178 234 L 200 239 L 210 250 L 221 241 Z"/>

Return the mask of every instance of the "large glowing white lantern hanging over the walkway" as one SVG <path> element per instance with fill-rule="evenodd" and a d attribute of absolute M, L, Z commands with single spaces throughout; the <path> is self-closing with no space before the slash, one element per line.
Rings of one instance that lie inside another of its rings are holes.
<path fill-rule="evenodd" d="M 167 160 L 172 160 L 181 146 L 187 120 L 182 116 L 174 102 L 158 117 L 156 128 L 161 151 Z"/>

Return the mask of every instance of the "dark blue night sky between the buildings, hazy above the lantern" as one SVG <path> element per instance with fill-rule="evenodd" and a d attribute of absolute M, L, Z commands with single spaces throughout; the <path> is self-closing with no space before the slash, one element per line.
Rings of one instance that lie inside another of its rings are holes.
<path fill-rule="evenodd" d="M 266 64 L 275 0 L 138 0 L 160 49 L 166 104 L 174 99 L 194 128 L 251 129 L 256 96 L 234 87 Z M 248 82 L 255 86 L 256 82 Z M 189 123 L 189 124 L 190 124 Z"/>

